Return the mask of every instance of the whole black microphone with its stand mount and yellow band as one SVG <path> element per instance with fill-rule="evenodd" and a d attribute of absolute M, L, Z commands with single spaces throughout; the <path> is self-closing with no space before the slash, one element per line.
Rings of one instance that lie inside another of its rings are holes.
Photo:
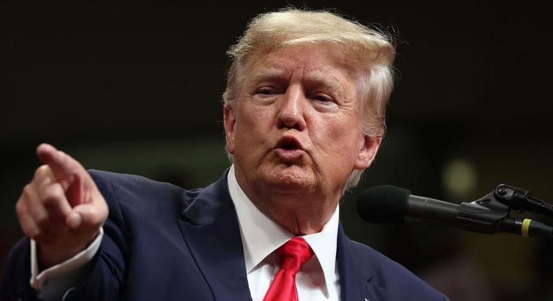
<path fill-rule="evenodd" d="M 510 218 L 510 208 L 493 193 L 471 203 L 452 204 L 412 195 L 396 186 L 376 186 L 361 193 L 357 212 L 369 223 L 426 221 L 486 234 L 509 232 L 524 237 L 553 237 L 553 227 L 525 218 Z"/>

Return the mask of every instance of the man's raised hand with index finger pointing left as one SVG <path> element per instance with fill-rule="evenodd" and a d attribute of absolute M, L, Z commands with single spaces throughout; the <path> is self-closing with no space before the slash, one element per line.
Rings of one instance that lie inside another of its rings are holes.
<path fill-rule="evenodd" d="M 49 144 L 36 149 L 44 163 L 23 189 L 15 211 L 25 235 L 38 246 L 41 269 L 83 251 L 99 234 L 108 207 L 90 174 Z"/>

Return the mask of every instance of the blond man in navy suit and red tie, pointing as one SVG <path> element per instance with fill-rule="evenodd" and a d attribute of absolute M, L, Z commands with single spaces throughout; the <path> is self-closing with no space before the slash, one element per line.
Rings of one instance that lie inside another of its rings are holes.
<path fill-rule="evenodd" d="M 252 20 L 228 51 L 234 164 L 201 190 L 39 146 L 3 300 L 447 300 L 338 221 L 384 134 L 394 51 L 331 13 Z"/>

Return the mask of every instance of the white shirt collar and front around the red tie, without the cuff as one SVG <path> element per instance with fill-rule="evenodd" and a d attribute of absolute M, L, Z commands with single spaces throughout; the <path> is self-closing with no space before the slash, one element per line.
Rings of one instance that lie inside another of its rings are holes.
<path fill-rule="evenodd" d="M 280 269 L 280 258 L 274 251 L 295 235 L 253 205 L 236 180 L 234 165 L 228 173 L 228 189 L 240 225 L 251 298 L 253 301 L 263 300 Z M 338 223 L 337 207 L 321 232 L 303 236 L 314 255 L 296 274 L 300 300 L 339 300 L 336 262 Z"/>

